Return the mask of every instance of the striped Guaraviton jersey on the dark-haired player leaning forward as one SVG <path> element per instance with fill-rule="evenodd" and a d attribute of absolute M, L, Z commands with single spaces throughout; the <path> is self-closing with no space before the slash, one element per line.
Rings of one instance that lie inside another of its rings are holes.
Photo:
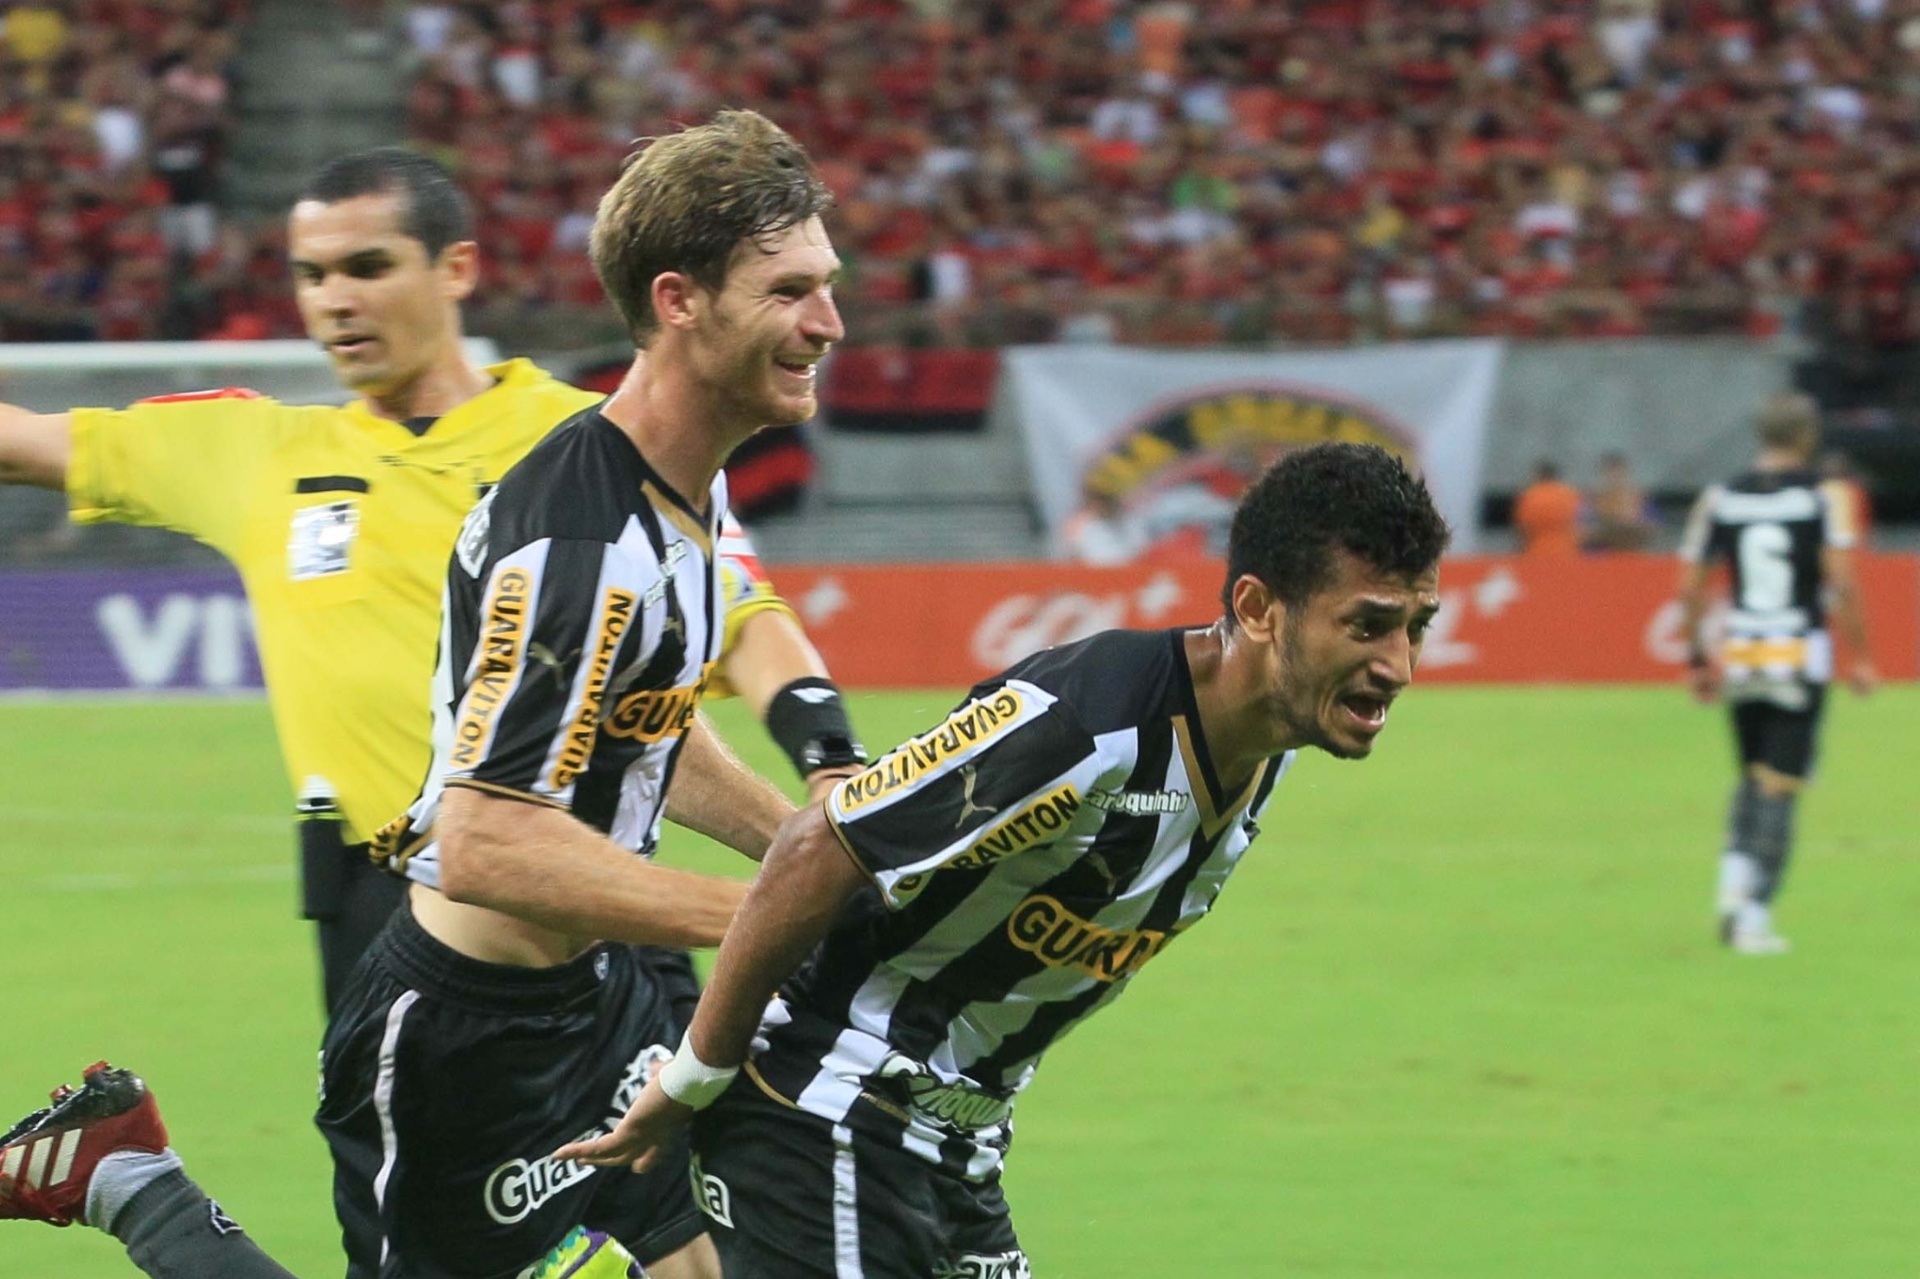
<path fill-rule="evenodd" d="M 768 1006 L 751 1074 L 993 1175 L 1041 1054 L 1212 908 L 1290 760 L 1221 789 L 1179 630 L 981 684 L 828 799 L 872 885 Z"/>

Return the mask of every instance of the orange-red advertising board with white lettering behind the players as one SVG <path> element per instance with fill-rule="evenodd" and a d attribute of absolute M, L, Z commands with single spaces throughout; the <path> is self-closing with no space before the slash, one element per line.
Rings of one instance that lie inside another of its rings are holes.
<path fill-rule="evenodd" d="M 781 565 L 793 603 L 849 688 L 968 686 L 1054 643 L 1114 626 L 1219 616 L 1217 561 L 1073 565 Z M 1461 557 L 1440 570 L 1442 609 L 1421 682 L 1668 682 L 1686 663 L 1678 563 Z M 1880 672 L 1920 678 L 1920 557 L 1860 563 Z"/>

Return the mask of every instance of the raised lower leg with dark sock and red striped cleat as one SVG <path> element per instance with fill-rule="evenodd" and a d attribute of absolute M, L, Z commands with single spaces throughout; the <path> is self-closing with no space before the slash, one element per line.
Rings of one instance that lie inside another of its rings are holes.
<path fill-rule="evenodd" d="M 106 1062 L 0 1135 L 0 1219 L 96 1225 L 156 1279 L 294 1279 L 186 1175 L 146 1081 Z"/>

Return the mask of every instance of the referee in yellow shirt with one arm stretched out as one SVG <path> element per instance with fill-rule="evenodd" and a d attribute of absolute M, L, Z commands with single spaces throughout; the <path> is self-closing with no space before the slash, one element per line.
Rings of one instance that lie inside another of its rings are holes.
<path fill-rule="evenodd" d="M 52 415 L 0 405 L 0 480 L 63 488 L 79 522 L 190 534 L 240 570 L 300 797 L 301 905 L 332 1008 L 405 895 L 363 845 L 428 766 L 440 591 L 461 519 L 601 396 L 524 359 L 467 361 L 472 215 L 422 156 L 382 148 L 321 169 L 288 248 L 307 334 L 357 399 L 223 390 Z M 837 693 L 816 691 L 831 689 L 818 653 L 768 597 L 751 593 L 753 616 L 741 615 L 753 670 L 732 659 L 724 670 L 818 787 L 862 753 Z"/>

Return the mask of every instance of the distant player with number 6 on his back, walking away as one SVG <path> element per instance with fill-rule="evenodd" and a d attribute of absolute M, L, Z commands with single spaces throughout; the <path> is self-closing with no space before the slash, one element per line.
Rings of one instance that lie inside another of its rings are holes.
<path fill-rule="evenodd" d="M 1680 599 L 1693 693 L 1724 693 L 1734 712 L 1740 785 L 1720 857 L 1720 939 L 1743 954 L 1788 949 L 1772 903 L 1793 851 L 1793 807 L 1812 776 L 1826 686 L 1834 676 L 1828 615 L 1847 643 L 1849 682 L 1880 682 L 1855 584 L 1853 495 L 1814 471 L 1820 413 L 1807 396 L 1770 399 L 1759 415 L 1753 469 L 1715 484 L 1688 519 Z M 1707 578 L 1726 565 L 1732 591 L 1718 664 L 1709 651 Z"/>

